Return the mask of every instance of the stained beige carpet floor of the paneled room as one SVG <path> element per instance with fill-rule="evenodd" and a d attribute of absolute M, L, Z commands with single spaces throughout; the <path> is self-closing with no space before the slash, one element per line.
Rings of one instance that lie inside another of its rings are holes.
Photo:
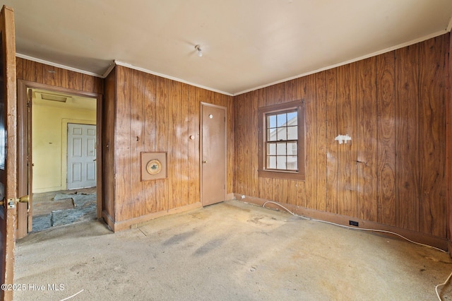
<path fill-rule="evenodd" d="M 117 233 L 96 220 L 32 233 L 14 300 L 438 300 L 451 272 L 435 249 L 226 201 Z"/>

